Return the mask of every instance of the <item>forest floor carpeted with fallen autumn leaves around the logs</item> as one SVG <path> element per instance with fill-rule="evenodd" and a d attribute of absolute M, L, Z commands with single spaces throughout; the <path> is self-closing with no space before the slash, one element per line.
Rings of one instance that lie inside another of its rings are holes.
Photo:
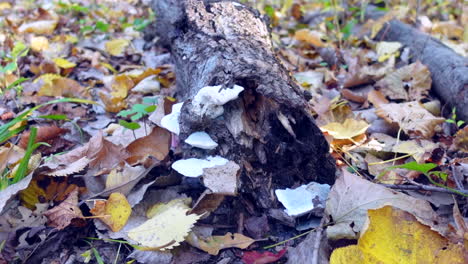
<path fill-rule="evenodd" d="M 466 59 L 463 1 L 375 1 L 374 20 L 361 1 L 241 1 L 336 160 L 333 185 L 272 185 L 270 210 L 242 192 L 255 168 L 183 163 L 218 144 L 167 123 L 177 76 L 148 2 L 0 2 L 0 263 L 466 263 L 467 120 L 376 37 L 396 18 Z"/>

